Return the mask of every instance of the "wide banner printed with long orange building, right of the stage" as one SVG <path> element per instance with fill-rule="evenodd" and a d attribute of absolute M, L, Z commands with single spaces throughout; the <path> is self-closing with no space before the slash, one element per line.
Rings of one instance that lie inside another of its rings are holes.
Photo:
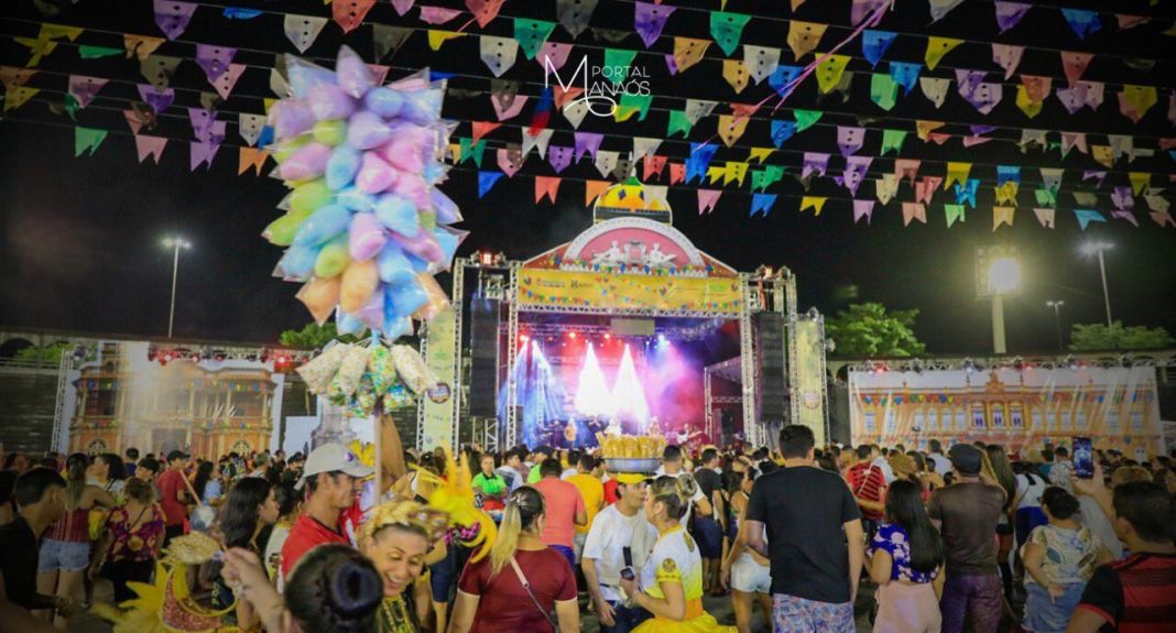
<path fill-rule="evenodd" d="M 1021 452 L 1078 435 L 1141 461 L 1165 451 L 1151 367 L 853 371 L 849 401 L 855 445 L 936 438 Z"/>

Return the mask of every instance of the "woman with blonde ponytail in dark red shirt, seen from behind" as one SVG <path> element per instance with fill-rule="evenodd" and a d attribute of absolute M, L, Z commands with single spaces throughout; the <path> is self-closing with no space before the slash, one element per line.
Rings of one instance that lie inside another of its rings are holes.
<path fill-rule="evenodd" d="M 559 461 L 549 461 L 559 481 Z M 530 486 L 510 493 L 490 555 L 461 573 L 449 633 L 580 631 L 575 575 L 567 557 L 540 539 L 546 522 L 543 493 Z"/>

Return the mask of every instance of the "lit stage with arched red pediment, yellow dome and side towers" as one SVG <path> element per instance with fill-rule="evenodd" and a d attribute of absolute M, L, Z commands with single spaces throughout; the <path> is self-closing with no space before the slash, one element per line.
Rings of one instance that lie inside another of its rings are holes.
<path fill-rule="evenodd" d="M 420 447 L 589 446 L 610 425 L 682 444 L 771 444 L 789 421 L 826 437 L 823 322 L 797 314 L 787 268 L 739 272 L 703 253 L 663 194 L 634 181 L 593 212 L 529 259 L 454 264 L 453 309 L 421 345 L 456 388 L 420 407 Z"/>

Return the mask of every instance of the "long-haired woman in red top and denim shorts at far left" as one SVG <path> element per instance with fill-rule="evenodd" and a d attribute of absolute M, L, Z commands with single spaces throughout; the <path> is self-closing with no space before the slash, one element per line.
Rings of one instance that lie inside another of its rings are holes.
<path fill-rule="evenodd" d="M 112 508 L 114 497 L 86 482 L 89 459 L 74 453 L 66 460 L 65 513 L 49 526 L 41 539 L 36 568 L 36 591 L 56 594 L 71 601 L 82 600 L 82 578 L 89 566 L 89 511 L 95 506 Z M 65 627 L 66 619 L 55 622 Z"/>

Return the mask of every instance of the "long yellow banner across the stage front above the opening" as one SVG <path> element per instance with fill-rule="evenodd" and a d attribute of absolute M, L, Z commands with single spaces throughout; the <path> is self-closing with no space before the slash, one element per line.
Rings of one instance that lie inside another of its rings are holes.
<path fill-rule="evenodd" d="M 693 278 L 524 268 L 519 302 L 527 307 L 581 307 L 615 311 L 707 312 L 737 316 L 742 308 L 735 278 Z"/>

